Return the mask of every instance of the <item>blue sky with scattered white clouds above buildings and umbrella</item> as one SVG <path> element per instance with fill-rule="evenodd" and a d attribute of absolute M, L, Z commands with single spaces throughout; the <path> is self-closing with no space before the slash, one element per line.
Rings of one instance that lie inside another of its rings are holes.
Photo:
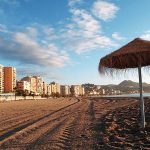
<path fill-rule="evenodd" d="M 149 0 L 0 0 L 0 63 L 17 78 L 61 84 L 118 84 L 135 73 L 103 77 L 101 57 L 136 37 L 150 40 Z M 143 74 L 150 83 L 150 76 Z"/>

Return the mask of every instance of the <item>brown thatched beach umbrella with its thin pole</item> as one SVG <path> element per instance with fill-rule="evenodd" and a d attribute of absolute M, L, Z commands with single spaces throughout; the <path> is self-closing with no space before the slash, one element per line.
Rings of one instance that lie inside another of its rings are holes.
<path fill-rule="evenodd" d="M 139 90 L 141 99 L 142 127 L 145 127 L 145 112 L 142 87 L 141 67 L 150 65 L 150 41 L 136 38 L 120 49 L 106 55 L 100 60 L 100 73 L 119 73 L 123 70 L 138 68 Z"/>

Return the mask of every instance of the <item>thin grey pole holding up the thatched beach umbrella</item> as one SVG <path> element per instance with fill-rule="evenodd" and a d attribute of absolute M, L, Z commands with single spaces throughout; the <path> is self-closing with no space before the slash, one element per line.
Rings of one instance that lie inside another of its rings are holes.
<path fill-rule="evenodd" d="M 138 73 L 139 73 L 139 91 L 140 91 L 140 100 L 141 100 L 141 125 L 142 125 L 142 128 L 145 128 L 145 111 L 144 111 L 141 66 L 138 67 Z"/>

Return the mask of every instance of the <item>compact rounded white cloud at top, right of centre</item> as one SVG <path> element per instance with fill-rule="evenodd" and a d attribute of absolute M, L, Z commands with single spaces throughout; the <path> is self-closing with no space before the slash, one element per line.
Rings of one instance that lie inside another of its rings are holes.
<path fill-rule="evenodd" d="M 92 7 L 92 13 L 104 21 L 113 19 L 119 8 L 114 4 L 106 1 L 97 0 Z"/>

